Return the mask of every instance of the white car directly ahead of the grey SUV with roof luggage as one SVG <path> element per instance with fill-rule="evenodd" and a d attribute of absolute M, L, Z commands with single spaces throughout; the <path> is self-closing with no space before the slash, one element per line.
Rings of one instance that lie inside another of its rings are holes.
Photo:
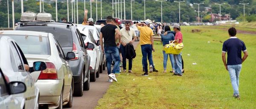
<path fill-rule="evenodd" d="M 100 50 L 99 46 L 96 46 L 96 42 L 93 38 L 93 34 L 86 27 L 77 27 L 81 36 L 83 37 L 84 44 L 87 46 L 87 52 L 90 55 L 90 72 L 96 72 L 96 77 L 99 77 L 99 62 L 100 62 Z"/>

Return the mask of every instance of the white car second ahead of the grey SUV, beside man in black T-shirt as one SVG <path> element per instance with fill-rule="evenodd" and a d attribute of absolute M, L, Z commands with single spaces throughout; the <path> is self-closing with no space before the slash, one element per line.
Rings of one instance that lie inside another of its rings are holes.
<path fill-rule="evenodd" d="M 103 70 L 105 70 L 105 66 L 106 66 L 106 57 L 104 52 L 101 49 L 101 46 L 99 44 L 99 34 L 100 34 L 100 26 L 89 26 L 89 25 L 81 25 L 78 24 L 78 27 L 85 27 L 87 28 L 92 34 L 93 34 L 93 38 L 95 40 L 96 46 L 98 46 L 99 50 L 100 50 L 100 59 L 99 59 L 99 73 L 102 73 Z M 104 42 L 104 40 L 103 40 Z M 103 45 L 104 46 L 104 45 Z"/>

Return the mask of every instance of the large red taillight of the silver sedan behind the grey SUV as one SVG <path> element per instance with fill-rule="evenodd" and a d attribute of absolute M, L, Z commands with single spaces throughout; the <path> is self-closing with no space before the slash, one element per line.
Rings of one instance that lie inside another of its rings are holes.
<path fill-rule="evenodd" d="M 55 65 L 51 62 L 46 62 L 46 67 L 47 68 L 45 70 L 41 71 L 38 80 L 58 79 L 58 74 Z"/>

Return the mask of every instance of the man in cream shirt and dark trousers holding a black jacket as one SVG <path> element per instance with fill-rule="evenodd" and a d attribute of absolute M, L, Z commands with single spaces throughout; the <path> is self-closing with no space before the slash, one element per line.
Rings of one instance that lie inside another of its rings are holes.
<path fill-rule="evenodd" d="M 131 23 L 129 21 L 125 22 L 125 28 L 122 28 L 120 30 L 121 33 L 121 53 L 122 53 L 122 63 L 123 63 L 123 72 L 126 72 L 126 51 L 125 46 L 127 43 L 134 43 L 134 41 L 137 39 L 134 29 L 130 28 Z M 134 38 L 134 39 L 132 39 Z M 132 73 L 132 59 L 129 59 L 129 71 Z"/>

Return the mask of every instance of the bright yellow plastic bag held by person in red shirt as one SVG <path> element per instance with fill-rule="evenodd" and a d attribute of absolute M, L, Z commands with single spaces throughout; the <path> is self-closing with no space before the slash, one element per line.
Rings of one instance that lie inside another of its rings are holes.
<path fill-rule="evenodd" d="M 183 43 L 174 43 L 174 41 L 175 40 L 173 40 L 172 43 L 163 46 L 163 51 L 165 51 L 166 54 L 180 54 L 184 45 Z"/>

